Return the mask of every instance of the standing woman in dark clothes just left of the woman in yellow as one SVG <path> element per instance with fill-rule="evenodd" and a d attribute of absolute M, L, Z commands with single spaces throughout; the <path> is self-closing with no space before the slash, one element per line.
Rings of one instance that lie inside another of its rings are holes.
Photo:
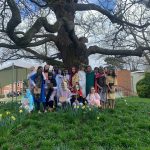
<path fill-rule="evenodd" d="M 102 108 L 105 109 L 107 106 L 107 84 L 106 84 L 106 74 L 102 67 L 99 68 L 99 80 L 98 87 L 100 89 L 100 98 Z"/>

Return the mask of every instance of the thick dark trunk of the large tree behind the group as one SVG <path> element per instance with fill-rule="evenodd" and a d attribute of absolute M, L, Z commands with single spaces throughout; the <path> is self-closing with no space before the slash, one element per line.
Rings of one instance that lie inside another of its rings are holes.
<path fill-rule="evenodd" d="M 58 31 L 56 46 L 61 53 L 64 65 L 67 68 L 88 64 L 87 48 L 75 35 L 74 18 L 75 11 L 72 5 L 70 8 L 62 5 L 54 9 L 57 20 L 63 20 L 64 24 Z"/>

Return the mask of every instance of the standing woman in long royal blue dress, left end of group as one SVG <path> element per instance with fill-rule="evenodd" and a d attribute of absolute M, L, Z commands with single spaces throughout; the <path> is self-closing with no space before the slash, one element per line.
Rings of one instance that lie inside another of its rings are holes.
<path fill-rule="evenodd" d="M 36 74 L 31 76 L 32 84 L 34 86 L 34 100 L 37 104 L 38 113 L 40 112 L 40 103 L 43 103 L 44 112 L 46 112 L 45 99 L 45 80 L 46 77 L 43 72 L 43 67 L 39 66 Z"/>

